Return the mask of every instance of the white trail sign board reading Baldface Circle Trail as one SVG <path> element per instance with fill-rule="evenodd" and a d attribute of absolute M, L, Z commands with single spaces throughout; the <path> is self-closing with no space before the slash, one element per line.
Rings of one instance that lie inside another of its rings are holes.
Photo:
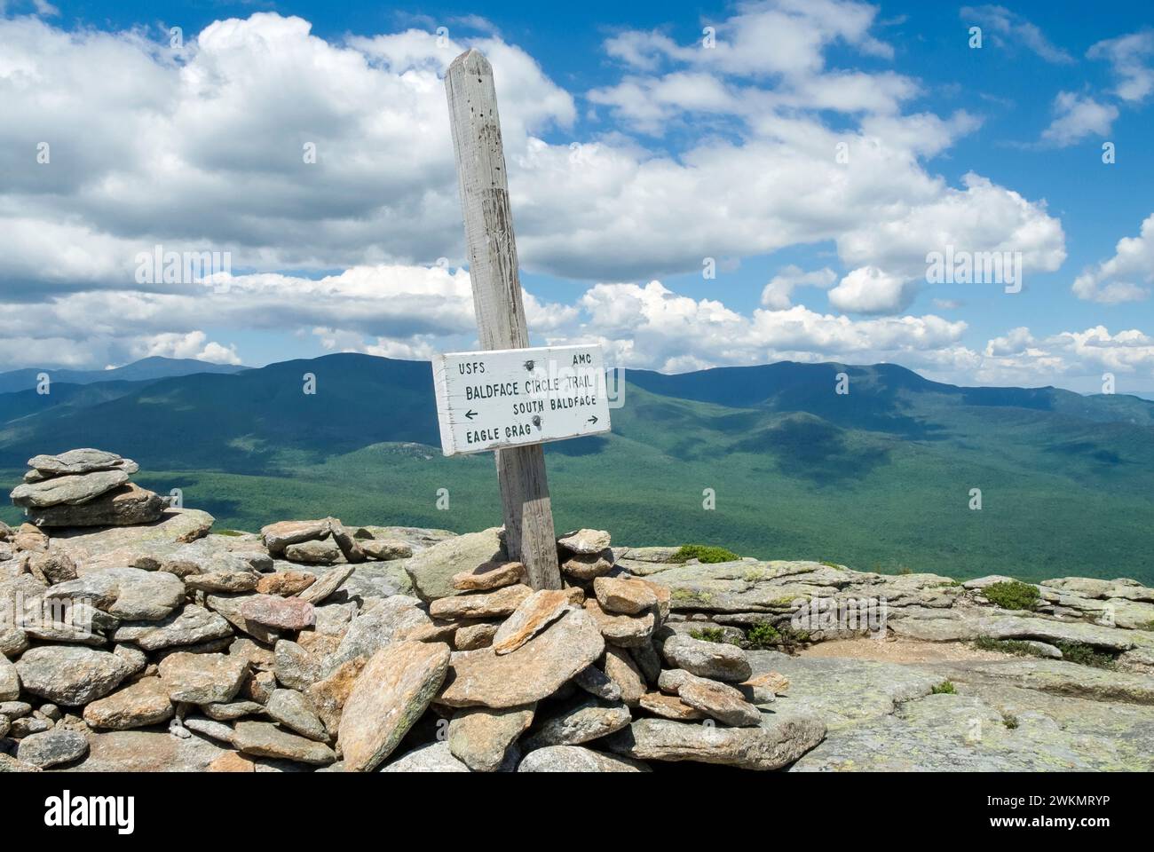
<path fill-rule="evenodd" d="M 447 456 L 609 431 L 599 345 L 441 354 L 433 383 Z"/>

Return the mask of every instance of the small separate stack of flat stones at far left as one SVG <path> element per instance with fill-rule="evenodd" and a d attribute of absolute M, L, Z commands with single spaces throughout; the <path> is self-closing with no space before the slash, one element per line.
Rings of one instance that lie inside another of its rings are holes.
<path fill-rule="evenodd" d="M 166 500 L 129 481 L 136 462 L 115 453 L 74 449 L 35 456 L 12 492 L 36 526 L 123 526 L 160 517 Z"/>

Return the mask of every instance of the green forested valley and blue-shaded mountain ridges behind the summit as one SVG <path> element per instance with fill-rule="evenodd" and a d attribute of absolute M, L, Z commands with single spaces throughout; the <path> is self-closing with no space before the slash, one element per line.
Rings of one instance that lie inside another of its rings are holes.
<path fill-rule="evenodd" d="M 546 448 L 559 528 L 864 570 L 1154 578 L 1149 401 L 961 388 L 892 364 L 625 379 L 612 433 Z M 347 523 L 501 522 L 492 457 L 441 456 L 427 361 L 338 353 L 0 394 L 0 470 L 73 447 L 136 459 L 142 485 L 179 486 L 223 525 L 322 506 Z"/>

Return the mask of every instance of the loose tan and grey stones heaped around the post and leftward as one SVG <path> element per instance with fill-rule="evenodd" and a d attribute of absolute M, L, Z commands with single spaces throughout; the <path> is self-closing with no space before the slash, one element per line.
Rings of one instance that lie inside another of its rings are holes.
<path fill-rule="evenodd" d="M 31 466 L 14 501 L 61 513 L 136 470 Z M 825 733 L 773 712 L 780 675 L 667 623 L 605 532 L 562 537 L 565 588 L 534 591 L 501 530 L 99 517 L 119 525 L 0 528 L 0 770 L 777 769 Z"/>

